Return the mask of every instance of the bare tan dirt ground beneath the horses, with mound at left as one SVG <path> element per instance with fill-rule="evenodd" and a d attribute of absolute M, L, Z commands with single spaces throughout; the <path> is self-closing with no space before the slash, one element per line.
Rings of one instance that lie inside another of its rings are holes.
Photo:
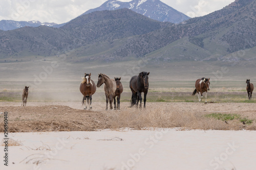
<path fill-rule="evenodd" d="M 1 102 L 0 112 L 9 112 L 10 132 L 43 131 L 93 131 L 108 129 L 108 115 L 129 112 L 129 103 L 121 103 L 120 110 L 105 110 L 105 103 L 93 103 L 93 109 L 83 110 L 77 102 L 29 102 L 27 107 L 20 103 Z M 189 114 L 237 113 L 256 119 L 255 103 L 147 103 L 146 109 L 162 109 L 164 112 L 186 112 Z M 143 112 L 144 109 L 138 112 Z M 3 116 L 0 116 L 0 131 L 4 131 Z"/>

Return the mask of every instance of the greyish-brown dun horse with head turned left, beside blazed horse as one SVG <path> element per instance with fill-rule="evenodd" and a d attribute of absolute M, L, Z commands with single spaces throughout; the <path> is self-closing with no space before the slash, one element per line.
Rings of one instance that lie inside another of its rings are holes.
<path fill-rule="evenodd" d="M 110 101 L 110 109 L 112 110 L 112 102 L 116 91 L 116 81 L 113 79 L 110 79 L 108 76 L 104 74 L 99 74 L 98 77 L 98 83 L 97 87 L 100 87 L 103 83 L 104 85 L 104 91 L 106 96 L 106 110 L 108 110 L 108 103 Z"/>

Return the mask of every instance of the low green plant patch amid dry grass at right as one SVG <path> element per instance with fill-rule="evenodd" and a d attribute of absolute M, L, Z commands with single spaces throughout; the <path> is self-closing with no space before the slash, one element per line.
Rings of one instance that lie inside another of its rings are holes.
<path fill-rule="evenodd" d="M 223 120 L 223 121 L 228 121 L 228 120 L 234 120 L 237 119 L 241 123 L 245 124 L 251 124 L 253 122 L 252 119 L 248 119 L 246 117 L 242 117 L 240 114 L 222 114 L 222 113 L 211 113 L 211 114 L 206 114 L 205 117 L 208 118 L 216 118 L 218 120 Z"/>

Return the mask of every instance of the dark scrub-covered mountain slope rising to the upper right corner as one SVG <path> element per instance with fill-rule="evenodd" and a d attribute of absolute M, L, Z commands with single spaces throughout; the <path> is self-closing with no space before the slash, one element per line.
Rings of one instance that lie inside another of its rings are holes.
<path fill-rule="evenodd" d="M 236 1 L 224 8 L 224 12 L 216 11 L 203 17 L 189 19 L 180 25 L 133 37 L 114 54 L 133 54 L 142 57 L 184 37 L 188 37 L 191 43 L 218 57 L 251 48 L 256 44 L 255 4 L 255 1 Z M 133 51 L 135 46 L 137 51 Z"/>

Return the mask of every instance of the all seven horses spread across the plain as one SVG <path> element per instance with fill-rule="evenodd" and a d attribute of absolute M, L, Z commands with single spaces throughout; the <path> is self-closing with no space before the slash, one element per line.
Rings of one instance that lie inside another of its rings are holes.
<path fill-rule="evenodd" d="M 142 92 L 144 93 L 144 108 L 146 107 L 146 95 L 148 91 L 148 75 L 150 75 L 150 72 L 142 71 L 138 76 L 133 76 L 130 80 L 130 89 L 132 91 L 132 98 L 131 98 L 131 107 L 133 106 L 141 106 L 142 102 Z M 108 103 L 110 103 L 110 109 L 113 109 L 112 103 L 114 100 L 114 109 L 120 109 L 120 97 L 121 93 L 123 92 L 123 86 L 120 82 L 121 78 L 115 78 L 110 79 L 105 74 L 99 74 L 98 75 L 98 82 L 97 85 L 95 85 L 94 81 L 91 80 L 91 73 L 90 74 L 84 74 L 84 77 L 82 78 L 82 82 L 80 84 L 80 92 L 83 95 L 82 99 L 82 105 L 84 105 L 84 101 L 86 101 L 87 106 L 84 107 L 84 109 L 92 109 L 92 95 L 96 92 L 96 87 L 100 87 L 104 83 L 104 91 L 105 91 L 105 98 L 106 98 L 106 109 L 108 110 Z M 250 83 L 250 79 L 246 80 L 246 90 L 248 93 L 248 99 L 251 100 L 251 94 L 254 89 L 253 84 Z M 198 94 L 198 100 L 201 102 L 203 93 L 205 94 L 205 103 L 207 103 L 207 91 L 210 90 L 210 78 L 202 78 L 198 79 L 195 84 L 196 89 L 192 93 L 192 95 Z M 28 89 L 29 86 L 25 86 L 25 89 L 23 90 L 22 94 L 22 101 L 23 106 L 26 106 L 27 104 L 27 98 L 28 98 Z M 116 96 L 117 96 L 117 102 L 116 102 Z M 140 102 L 140 105 L 139 105 Z"/>

